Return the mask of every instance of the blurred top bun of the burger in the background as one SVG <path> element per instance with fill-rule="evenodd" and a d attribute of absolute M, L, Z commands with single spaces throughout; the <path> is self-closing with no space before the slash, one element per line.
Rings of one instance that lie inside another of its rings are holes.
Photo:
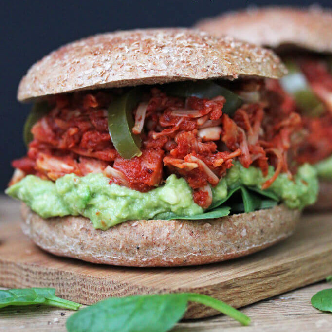
<path fill-rule="evenodd" d="M 295 46 L 332 53 L 332 11 L 312 6 L 305 9 L 265 7 L 229 12 L 197 23 L 215 36 L 227 34 L 277 49 Z"/>

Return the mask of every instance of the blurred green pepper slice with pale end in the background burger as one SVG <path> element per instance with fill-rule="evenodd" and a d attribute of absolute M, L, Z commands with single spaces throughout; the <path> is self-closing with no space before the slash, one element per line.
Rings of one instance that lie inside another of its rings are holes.
<path fill-rule="evenodd" d="M 324 113 L 323 103 L 316 97 L 304 74 L 293 61 L 287 61 L 289 74 L 280 79 L 282 88 L 291 94 L 296 105 L 306 115 L 318 117 Z"/>

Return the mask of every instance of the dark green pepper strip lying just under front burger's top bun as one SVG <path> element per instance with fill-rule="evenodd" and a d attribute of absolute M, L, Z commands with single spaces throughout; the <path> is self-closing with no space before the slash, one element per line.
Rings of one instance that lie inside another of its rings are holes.
<path fill-rule="evenodd" d="M 217 96 L 223 96 L 226 99 L 222 112 L 228 115 L 233 113 L 242 105 L 242 98 L 237 94 L 221 87 L 212 81 L 185 81 L 166 84 L 162 90 L 170 95 L 177 97 L 198 97 L 212 99 Z"/>

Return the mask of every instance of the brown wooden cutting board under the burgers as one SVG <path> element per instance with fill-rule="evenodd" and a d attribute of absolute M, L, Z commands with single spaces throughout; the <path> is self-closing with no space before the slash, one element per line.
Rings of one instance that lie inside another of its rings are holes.
<path fill-rule="evenodd" d="M 245 258 L 205 266 L 146 269 L 95 265 L 47 254 L 22 234 L 18 204 L 1 202 L 3 287 L 55 287 L 57 295 L 84 304 L 109 296 L 197 292 L 242 307 L 332 274 L 332 214 L 303 216 L 295 235 Z M 192 304 L 185 318 L 213 314 L 216 312 L 207 307 Z"/>

